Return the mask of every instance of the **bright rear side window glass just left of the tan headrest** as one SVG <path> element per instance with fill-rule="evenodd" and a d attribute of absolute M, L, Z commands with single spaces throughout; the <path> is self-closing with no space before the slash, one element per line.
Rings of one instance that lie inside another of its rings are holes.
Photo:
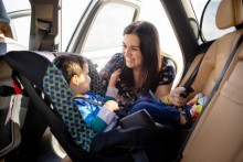
<path fill-rule="evenodd" d="M 211 0 L 208 8 L 205 9 L 203 22 L 202 22 L 202 34 L 205 41 L 215 40 L 225 33 L 234 31 L 234 28 L 230 28 L 226 30 L 219 30 L 215 25 L 215 14 L 220 1 L 221 0 Z M 193 6 L 199 22 L 201 20 L 201 14 L 208 0 L 200 0 L 200 1 L 191 0 L 191 3 Z"/>

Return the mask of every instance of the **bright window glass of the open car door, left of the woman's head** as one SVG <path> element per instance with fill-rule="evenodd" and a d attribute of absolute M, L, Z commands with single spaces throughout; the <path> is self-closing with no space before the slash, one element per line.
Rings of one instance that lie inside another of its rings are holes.
<path fill-rule="evenodd" d="M 98 71 L 112 55 L 122 52 L 123 31 L 134 14 L 135 8 L 120 3 L 107 3 L 98 12 L 83 50 L 83 55 L 98 64 Z"/>

